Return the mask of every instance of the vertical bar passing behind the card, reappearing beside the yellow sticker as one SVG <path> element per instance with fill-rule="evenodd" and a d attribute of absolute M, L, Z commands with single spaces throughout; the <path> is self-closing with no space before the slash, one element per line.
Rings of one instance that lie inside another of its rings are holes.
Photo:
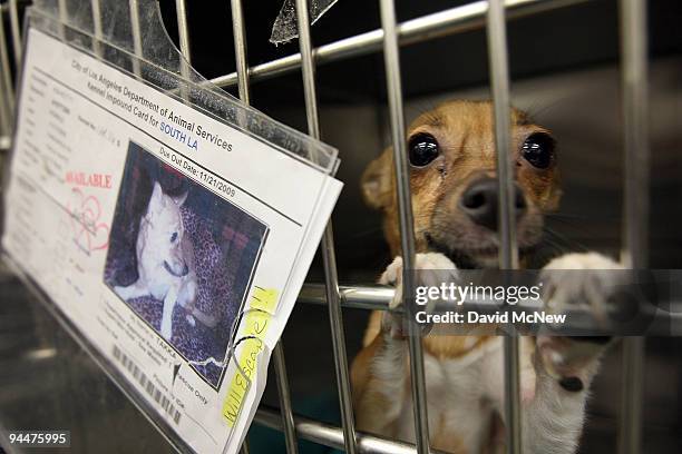
<path fill-rule="evenodd" d="M 234 34 L 234 55 L 236 68 L 240 73 L 240 98 L 242 102 L 251 102 L 251 90 L 249 89 L 249 63 L 246 61 L 246 29 L 244 21 L 244 10 L 242 0 L 231 0 L 232 9 L 232 31 Z M 282 417 L 282 430 L 289 454 L 298 454 L 299 444 L 296 431 L 293 423 L 293 409 L 291 405 L 291 392 L 289 378 L 286 376 L 286 362 L 284 361 L 284 349 L 282 340 L 277 342 L 273 351 L 274 369 L 277 378 L 277 391 L 280 396 L 280 413 Z M 244 442 L 245 443 L 245 442 Z"/>

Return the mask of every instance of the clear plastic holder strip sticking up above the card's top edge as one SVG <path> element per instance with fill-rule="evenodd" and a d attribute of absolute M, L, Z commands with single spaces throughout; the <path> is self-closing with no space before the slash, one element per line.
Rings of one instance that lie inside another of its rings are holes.
<path fill-rule="evenodd" d="M 168 37 L 154 0 L 37 0 L 28 21 L 321 172 L 337 171 L 337 149 L 241 103 L 199 76 Z"/>

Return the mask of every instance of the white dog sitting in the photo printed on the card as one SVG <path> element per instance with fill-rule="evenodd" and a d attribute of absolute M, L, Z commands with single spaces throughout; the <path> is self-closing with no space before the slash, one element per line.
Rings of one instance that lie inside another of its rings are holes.
<path fill-rule="evenodd" d="M 194 326 L 198 319 L 208 327 L 217 323 L 215 317 L 195 307 L 197 276 L 194 246 L 185 233 L 181 207 L 187 193 L 170 197 L 154 182 L 147 211 L 139 221 L 136 243 L 137 280 L 114 290 L 125 300 L 150 295 L 164 302 L 160 334 L 167 340 L 173 336 L 173 309 L 176 304 L 185 308 L 187 322 Z"/>

